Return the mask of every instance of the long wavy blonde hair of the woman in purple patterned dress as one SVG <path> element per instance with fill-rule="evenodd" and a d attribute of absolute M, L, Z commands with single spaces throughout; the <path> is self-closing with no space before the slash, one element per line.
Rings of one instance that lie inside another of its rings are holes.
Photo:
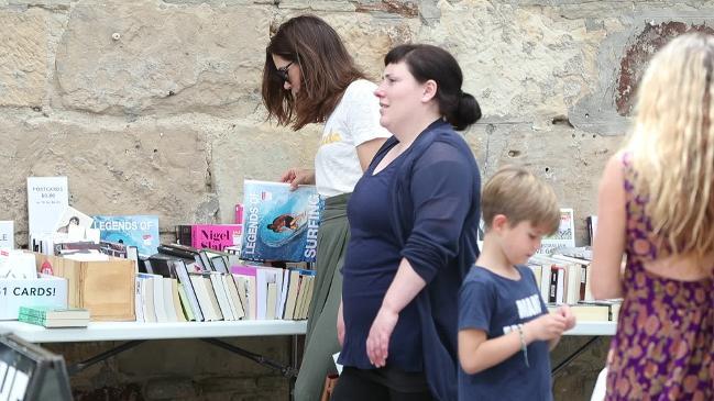
<path fill-rule="evenodd" d="M 686 34 L 659 51 L 639 87 L 628 149 L 635 188 L 672 255 L 714 250 L 714 36 Z"/>

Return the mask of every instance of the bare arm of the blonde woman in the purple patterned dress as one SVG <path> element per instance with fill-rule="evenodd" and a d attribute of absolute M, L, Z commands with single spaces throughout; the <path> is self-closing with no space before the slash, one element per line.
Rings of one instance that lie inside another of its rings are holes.
<path fill-rule="evenodd" d="M 597 232 L 593 244 L 591 291 L 595 299 L 623 296 L 620 265 L 625 252 L 625 188 L 622 155 L 609 158 L 597 196 Z"/>

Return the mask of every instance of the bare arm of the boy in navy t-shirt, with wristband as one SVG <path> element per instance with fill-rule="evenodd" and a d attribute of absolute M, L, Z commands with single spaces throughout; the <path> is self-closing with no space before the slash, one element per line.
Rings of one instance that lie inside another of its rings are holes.
<path fill-rule="evenodd" d="M 523 325 L 524 342 L 560 338 L 565 328 L 565 319 L 557 313 L 547 313 Z M 494 367 L 520 352 L 520 333 L 514 330 L 508 334 L 486 339 L 486 332 L 476 328 L 459 331 L 459 363 L 469 375 Z"/>

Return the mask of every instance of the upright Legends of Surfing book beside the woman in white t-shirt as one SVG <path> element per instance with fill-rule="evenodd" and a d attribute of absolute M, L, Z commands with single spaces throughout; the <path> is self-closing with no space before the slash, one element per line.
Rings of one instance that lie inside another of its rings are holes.
<path fill-rule="evenodd" d="M 315 186 L 245 180 L 241 258 L 315 261 L 322 208 Z"/>

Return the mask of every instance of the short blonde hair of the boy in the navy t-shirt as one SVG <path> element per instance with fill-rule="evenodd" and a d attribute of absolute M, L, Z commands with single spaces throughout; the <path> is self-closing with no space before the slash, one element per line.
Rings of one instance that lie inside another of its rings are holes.
<path fill-rule="evenodd" d="M 486 231 L 496 214 L 505 215 L 510 226 L 528 221 L 545 229 L 547 234 L 554 233 L 560 225 L 556 192 L 530 171 L 517 166 L 501 168 L 486 182 L 481 194 L 481 212 Z"/>

